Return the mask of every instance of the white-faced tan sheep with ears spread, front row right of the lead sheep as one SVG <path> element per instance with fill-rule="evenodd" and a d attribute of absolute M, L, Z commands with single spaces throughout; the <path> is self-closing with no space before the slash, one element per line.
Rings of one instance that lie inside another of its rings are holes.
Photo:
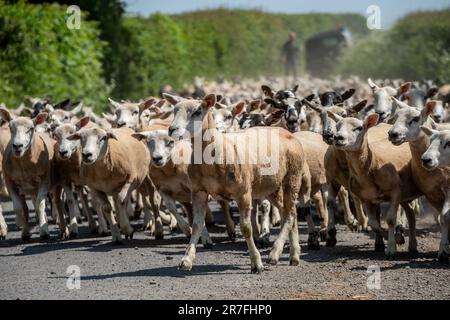
<path fill-rule="evenodd" d="M 395 256 L 397 244 L 395 227 L 399 205 L 405 210 L 409 227 L 409 252 L 417 252 L 414 211 L 408 202 L 420 196 L 411 172 L 411 152 L 407 146 L 394 147 L 385 140 L 368 143 L 367 133 L 378 124 L 379 115 L 371 114 L 366 120 L 341 118 L 329 113 L 336 122 L 335 145 L 345 151 L 350 168 L 349 190 L 356 194 L 368 214 L 369 224 L 382 241 L 383 233 L 377 221 L 377 203 L 389 201 L 387 211 L 388 246 L 386 256 Z"/>

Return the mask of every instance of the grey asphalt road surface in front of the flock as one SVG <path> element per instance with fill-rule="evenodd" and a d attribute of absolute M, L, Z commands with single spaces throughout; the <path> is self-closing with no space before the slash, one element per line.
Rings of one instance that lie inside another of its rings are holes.
<path fill-rule="evenodd" d="M 11 203 L 3 205 L 10 233 L 0 242 L 0 299 L 450 299 L 450 265 L 436 260 L 440 234 L 432 218 L 418 222 L 420 253 L 411 257 L 402 246 L 393 261 L 374 252 L 370 234 L 345 226 L 338 228 L 335 248 L 308 251 L 301 222 L 300 265 L 288 265 L 286 246 L 280 263 L 266 264 L 258 275 L 250 274 L 239 228 L 237 241 L 229 241 L 216 212 L 215 245 L 212 250 L 200 245 L 194 268 L 186 273 L 177 270 L 187 243 L 181 234 L 166 230 L 164 240 L 155 241 L 137 232 L 133 240 L 113 246 L 109 237 L 91 236 L 83 223 L 77 239 L 58 241 L 51 226 L 51 240 L 39 241 L 34 229 L 31 242 L 23 244 Z M 261 253 L 264 260 L 269 249 Z M 67 286 L 72 265 L 80 271 L 79 289 Z M 370 266 L 380 268 L 379 278 L 370 277 Z"/>

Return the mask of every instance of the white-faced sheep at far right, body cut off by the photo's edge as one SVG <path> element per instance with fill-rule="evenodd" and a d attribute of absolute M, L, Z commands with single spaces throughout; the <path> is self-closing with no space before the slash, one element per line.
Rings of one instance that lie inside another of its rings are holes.
<path fill-rule="evenodd" d="M 444 262 L 450 257 L 450 131 L 438 131 L 426 126 L 420 128 L 431 139 L 428 149 L 421 156 L 422 166 L 433 176 L 440 174 L 435 188 L 444 197 L 440 207 L 441 241 L 438 259 Z"/>

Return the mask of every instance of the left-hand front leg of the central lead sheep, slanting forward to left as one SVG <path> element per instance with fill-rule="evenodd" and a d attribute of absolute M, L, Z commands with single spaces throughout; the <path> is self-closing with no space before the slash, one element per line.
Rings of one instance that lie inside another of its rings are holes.
<path fill-rule="evenodd" d="M 208 206 L 208 194 L 203 191 L 192 192 L 192 206 L 193 206 L 193 223 L 192 235 L 189 240 L 188 247 L 184 257 L 181 259 L 178 269 L 191 271 L 195 259 L 196 245 L 202 231 L 205 227 L 206 207 Z"/>

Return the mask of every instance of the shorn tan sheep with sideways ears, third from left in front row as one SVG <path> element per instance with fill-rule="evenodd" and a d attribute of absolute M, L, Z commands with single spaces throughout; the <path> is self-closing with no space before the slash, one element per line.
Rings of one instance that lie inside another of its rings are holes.
<path fill-rule="evenodd" d="M 83 121 L 86 126 L 89 121 Z M 68 140 L 80 140 L 82 164 L 80 176 L 96 199 L 96 211 L 109 222 L 113 243 L 121 243 L 120 231 L 132 238 L 134 230 L 127 210 L 133 190 L 148 182 L 150 155 L 142 142 L 131 135 L 129 128 L 105 131 L 99 127 L 81 127 Z M 120 231 L 107 196 L 115 201 Z"/>

